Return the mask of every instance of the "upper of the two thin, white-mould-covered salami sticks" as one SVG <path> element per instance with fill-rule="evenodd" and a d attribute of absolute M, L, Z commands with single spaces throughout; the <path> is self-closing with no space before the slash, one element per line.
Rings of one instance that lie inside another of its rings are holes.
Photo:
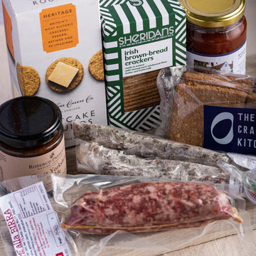
<path fill-rule="evenodd" d="M 218 160 L 230 161 L 227 154 L 126 129 L 79 122 L 74 122 L 73 128 L 75 137 L 79 139 L 97 142 L 107 148 L 120 149 L 136 156 L 190 161 L 216 167 Z"/>

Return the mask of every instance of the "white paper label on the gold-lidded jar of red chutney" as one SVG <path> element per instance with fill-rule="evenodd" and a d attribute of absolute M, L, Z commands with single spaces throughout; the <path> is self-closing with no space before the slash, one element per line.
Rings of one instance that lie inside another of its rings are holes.
<path fill-rule="evenodd" d="M 200 66 L 245 75 L 246 41 L 237 50 L 221 55 L 205 55 L 187 50 L 187 65 L 188 67 Z"/>

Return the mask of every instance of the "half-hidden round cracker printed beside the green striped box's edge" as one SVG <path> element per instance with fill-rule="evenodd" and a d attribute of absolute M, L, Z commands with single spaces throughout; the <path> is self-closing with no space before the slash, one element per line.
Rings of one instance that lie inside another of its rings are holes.
<path fill-rule="evenodd" d="M 102 50 L 99 50 L 92 56 L 89 62 L 88 70 L 93 78 L 104 80 L 104 65 Z"/>

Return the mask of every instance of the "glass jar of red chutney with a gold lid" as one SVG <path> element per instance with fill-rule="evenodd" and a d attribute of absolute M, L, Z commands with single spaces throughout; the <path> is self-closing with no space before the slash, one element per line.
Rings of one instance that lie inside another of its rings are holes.
<path fill-rule="evenodd" d="M 187 16 L 187 65 L 245 74 L 245 0 L 181 0 Z"/>

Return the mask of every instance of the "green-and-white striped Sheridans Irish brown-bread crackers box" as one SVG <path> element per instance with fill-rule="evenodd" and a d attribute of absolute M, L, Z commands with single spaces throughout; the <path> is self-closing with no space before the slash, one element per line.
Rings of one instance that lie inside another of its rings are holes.
<path fill-rule="evenodd" d="M 186 63 L 186 13 L 178 0 L 100 0 L 110 124 L 159 125 L 161 68 Z"/>

